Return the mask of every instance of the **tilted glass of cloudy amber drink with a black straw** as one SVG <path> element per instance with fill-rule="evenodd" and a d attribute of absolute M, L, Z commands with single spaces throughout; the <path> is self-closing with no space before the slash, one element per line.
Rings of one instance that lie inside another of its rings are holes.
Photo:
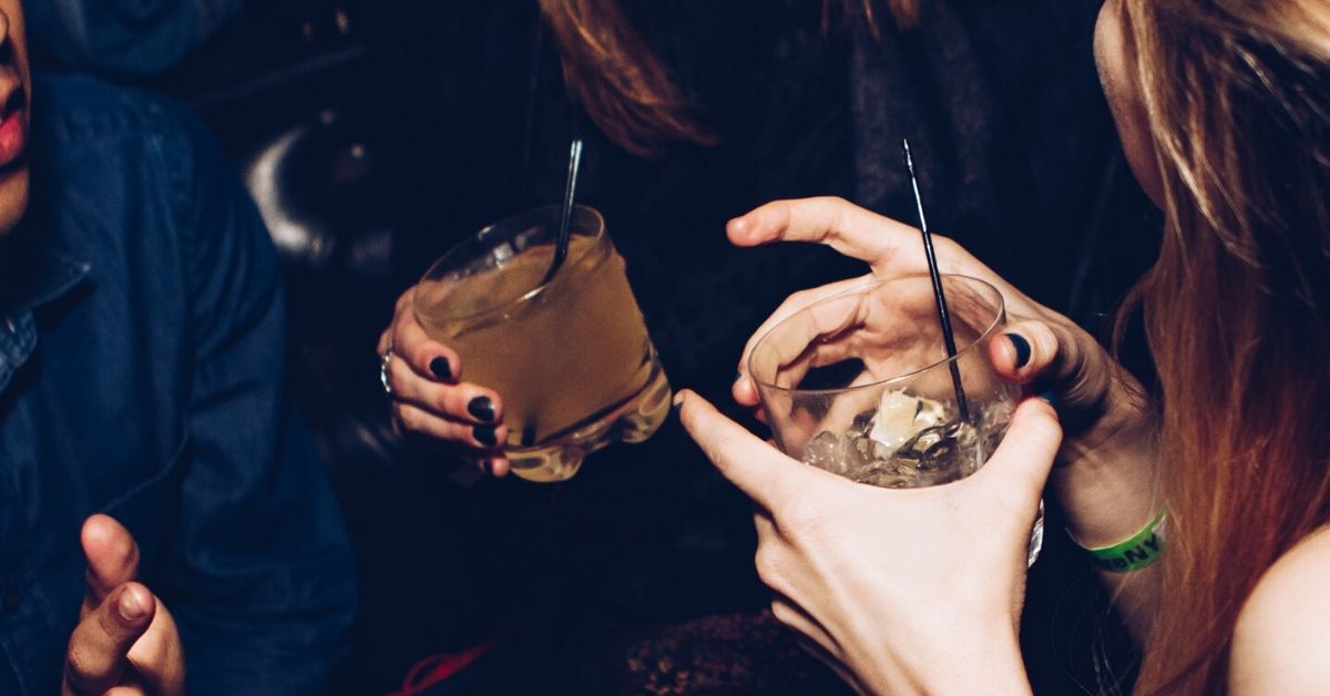
<path fill-rule="evenodd" d="M 513 474 L 565 480 L 614 442 L 641 442 L 669 415 L 670 386 L 624 260 L 592 208 L 572 213 L 568 257 L 548 285 L 559 206 L 513 216 L 444 254 L 415 313 L 462 357 L 468 382 L 504 399 Z"/>

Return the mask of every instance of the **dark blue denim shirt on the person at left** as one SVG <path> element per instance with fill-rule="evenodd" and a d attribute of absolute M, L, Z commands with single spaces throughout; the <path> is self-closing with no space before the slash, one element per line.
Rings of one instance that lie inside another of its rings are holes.
<path fill-rule="evenodd" d="M 138 542 L 192 693 L 325 692 L 355 578 L 261 220 L 196 120 L 93 80 L 37 81 L 29 158 L 0 241 L 0 693 L 59 689 L 93 512 Z"/>

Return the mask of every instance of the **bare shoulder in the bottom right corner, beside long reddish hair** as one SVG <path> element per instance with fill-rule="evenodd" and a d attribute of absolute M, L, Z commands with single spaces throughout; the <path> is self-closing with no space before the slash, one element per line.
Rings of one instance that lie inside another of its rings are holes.
<path fill-rule="evenodd" d="M 1238 613 L 1232 656 L 1236 696 L 1330 693 L 1330 528 L 1261 576 Z"/>

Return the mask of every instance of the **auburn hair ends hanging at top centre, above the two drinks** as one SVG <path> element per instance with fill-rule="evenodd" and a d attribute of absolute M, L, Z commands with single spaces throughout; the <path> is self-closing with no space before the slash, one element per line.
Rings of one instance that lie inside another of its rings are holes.
<path fill-rule="evenodd" d="M 712 145 L 697 105 L 670 79 L 624 12 L 625 0 L 540 0 L 568 90 L 596 125 L 624 149 L 660 154 L 669 142 Z M 878 32 L 875 0 L 823 0 L 823 28 L 858 24 Z M 918 20 L 919 0 L 887 0 L 902 27 Z"/>

